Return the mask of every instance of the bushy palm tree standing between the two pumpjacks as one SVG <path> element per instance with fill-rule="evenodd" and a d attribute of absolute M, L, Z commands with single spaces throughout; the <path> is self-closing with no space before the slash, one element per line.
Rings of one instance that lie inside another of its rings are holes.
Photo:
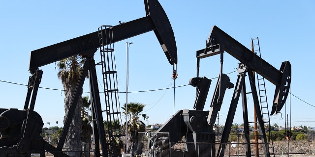
<path fill-rule="evenodd" d="M 127 138 L 127 146 L 126 146 L 126 152 L 129 154 L 133 154 L 134 150 L 136 150 L 137 146 L 137 134 L 138 132 L 145 131 L 145 123 L 143 123 L 140 120 L 140 117 L 145 118 L 147 117 L 146 114 L 141 114 L 143 111 L 143 108 L 145 107 L 144 104 L 140 103 L 129 103 L 127 105 L 127 113 L 126 113 L 126 103 L 122 107 L 125 114 L 128 115 L 129 120 L 127 123 L 127 133 L 126 133 L 126 138 Z M 123 126 L 123 130 L 126 131 L 126 122 Z"/>

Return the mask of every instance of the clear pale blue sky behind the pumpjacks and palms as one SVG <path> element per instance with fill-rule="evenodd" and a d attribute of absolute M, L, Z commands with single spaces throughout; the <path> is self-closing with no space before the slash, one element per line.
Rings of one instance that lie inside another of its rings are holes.
<path fill-rule="evenodd" d="M 176 86 L 189 84 L 196 76 L 197 50 L 205 48 L 211 27 L 216 25 L 234 39 L 251 46 L 251 38 L 259 37 L 262 58 L 279 69 L 282 61 L 292 65 L 291 118 L 292 126 L 315 127 L 315 78 L 314 37 L 315 1 L 252 1 L 252 0 L 160 0 L 174 30 L 178 50 L 178 74 Z M 85 35 L 101 25 L 118 25 L 145 16 L 142 0 L 54 0 L 54 1 L 1 1 L 0 4 L 0 51 L 1 108 L 23 109 L 27 87 L 6 83 L 27 84 L 30 52 L 55 43 Z M 133 42 L 129 49 L 128 91 L 144 91 L 173 87 L 173 67 L 168 63 L 153 32 L 141 34 L 114 44 L 120 92 L 126 92 L 126 42 Z M 99 60 L 99 52 L 95 60 Z M 228 53 L 224 55 L 223 73 L 235 70 L 238 61 Z M 54 63 L 40 67 L 43 78 L 40 87 L 63 89 L 57 78 Z M 201 60 L 200 76 L 218 77 L 220 56 Z M 99 71 L 100 72 L 100 71 Z M 235 84 L 237 73 L 228 75 Z M 102 79 L 100 78 L 101 81 Z M 246 78 L 248 79 L 248 78 Z M 216 79 L 213 79 L 205 109 L 210 109 Z M 100 87 L 101 89 L 101 87 Z M 267 83 L 269 107 L 273 101 L 275 86 Z M 63 126 L 63 98 L 60 90 L 40 88 L 34 110 L 51 126 L 59 121 Z M 88 81 L 84 91 L 89 91 Z M 220 114 L 223 125 L 228 113 L 233 90 L 227 90 Z M 83 95 L 89 95 L 84 93 Z M 101 97 L 103 98 L 103 97 Z M 174 90 L 130 93 L 128 102 L 146 104 L 150 118 L 146 124 L 163 124 L 173 115 Z M 195 88 L 188 85 L 175 90 L 175 112 L 192 109 Z M 248 98 L 251 100 L 252 98 Z M 120 102 L 126 102 L 126 94 L 120 94 Z M 250 121 L 252 105 L 249 102 Z M 241 102 L 233 123 L 243 123 Z M 289 112 L 289 98 L 286 112 Z M 285 109 L 282 110 L 283 117 Z M 271 123 L 284 126 L 281 115 L 272 116 Z"/>

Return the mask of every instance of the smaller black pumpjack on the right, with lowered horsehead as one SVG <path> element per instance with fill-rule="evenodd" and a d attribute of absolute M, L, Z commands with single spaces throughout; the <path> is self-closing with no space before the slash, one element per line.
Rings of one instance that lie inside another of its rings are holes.
<path fill-rule="evenodd" d="M 238 78 L 235 85 L 230 82 L 230 78 L 222 73 L 223 53 L 227 52 L 234 58 L 240 61 L 238 67 Z M 215 91 L 210 104 L 210 111 L 204 111 L 204 105 L 209 92 L 211 79 L 206 77 L 199 77 L 200 59 L 210 57 L 213 55 L 221 55 L 221 71 L 218 77 L 218 81 L 215 87 Z M 245 76 L 249 76 L 249 82 L 252 90 L 252 98 L 254 107 L 256 109 L 257 122 L 259 126 L 260 135 L 262 136 L 263 150 L 265 157 L 270 157 L 268 148 L 268 141 L 266 138 L 266 131 L 264 129 L 264 123 L 262 112 L 260 110 L 259 100 L 257 96 L 257 90 L 255 86 L 255 79 L 253 72 L 266 78 L 276 86 L 274 101 L 272 105 L 271 115 L 278 114 L 284 106 L 285 100 L 288 96 L 290 84 L 291 84 L 291 64 L 289 61 L 282 62 L 280 70 L 277 70 L 267 61 L 263 60 L 256 53 L 247 49 L 241 43 L 233 39 L 227 33 L 222 31 L 219 27 L 213 26 L 210 35 L 206 42 L 206 48 L 198 50 L 196 52 L 197 58 L 197 77 L 189 79 L 189 84 L 196 87 L 197 93 L 193 106 L 193 110 L 182 109 L 177 111 L 161 128 L 158 132 L 168 132 L 169 141 L 171 145 L 178 141 L 182 141 L 185 136 L 185 142 L 187 143 L 185 155 L 189 156 L 189 153 L 198 152 L 198 157 L 224 157 L 225 148 L 228 142 L 229 133 L 231 131 L 232 122 L 235 116 L 236 107 L 242 94 L 242 106 L 243 106 L 243 119 L 244 130 L 247 143 L 246 156 L 251 157 L 251 148 L 249 140 L 249 121 L 248 110 L 246 102 L 246 88 L 245 88 Z M 234 87 L 235 86 L 235 87 Z M 233 88 L 234 92 L 231 99 L 230 107 L 228 110 L 226 122 L 224 125 L 220 146 L 216 150 L 215 132 L 213 131 L 214 124 L 221 109 L 223 97 L 226 89 Z M 148 139 L 148 150 L 146 155 L 150 157 L 158 157 L 161 148 L 158 146 L 158 136 L 152 136 Z M 203 145 L 197 145 L 196 143 L 206 142 L 212 143 L 207 148 Z M 188 146 L 189 145 L 189 146 Z M 153 146 L 153 147 L 152 147 Z M 153 149 L 154 148 L 154 149 Z M 207 150 L 210 153 L 201 152 L 201 150 Z M 217 155 L 216 155 L 217 152 Z M 210 154 L 210 155 L 209 155 Z M 178 152 L 177 152 L 178 155 Z"/>

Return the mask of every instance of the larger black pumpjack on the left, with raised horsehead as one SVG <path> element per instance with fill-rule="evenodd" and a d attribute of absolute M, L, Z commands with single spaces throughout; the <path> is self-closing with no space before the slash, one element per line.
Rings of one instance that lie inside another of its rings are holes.
<path fill-rule="evenodd" d="M 45 151 L 50 152 L 55 157 L 69 157 L 62 152 L 63 144 L 86 76 L 89 76 L 92 114 L 95 119 L 93 122 L 95 156 L 100 156 L 100 147 L 102 156 L 110 156 L 105 139 L 94 60 L 94 53 L 102 46 L 102 43 L 99 42 L 100 38 L 108 39 L 109 42 L 106 44 L 112 44 L 142 33 L 154 31 L 169 63 L 171 65 L 177 64 L 175 37 L 166 13 L 158 0 L 144 0 L 144 4 L 145 17 L 106 28 L 111 29 L 112 34 L 102 34 L 99 37 L 99 32 L 95 31 L 31 52 L 29 66 L 31 76 L 24 108 L 21 110 L 15 108 L 0 109 L 1 157 L 30 157 L 31 153 L 38 153 L 41 157 L 45 157 Z M 43 71 L 39 67 L 78 54 L 85 57 L 83 70 L 75 88 L 69 111 L 66 114 L 58 146 L 55 148 L 41 138 L 43 121 L 41 116 L 34 111 L 36 95 L 43 75 Z"/>

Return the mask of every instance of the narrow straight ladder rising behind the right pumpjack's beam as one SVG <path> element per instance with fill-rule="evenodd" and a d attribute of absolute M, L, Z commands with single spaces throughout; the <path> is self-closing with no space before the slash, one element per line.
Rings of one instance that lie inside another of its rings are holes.
<path fill-rule="evenodd" d="M 259 57 L 261 59 L 258 37 L 252 39 L 252 52 L 255 54 L 257 54 L 259 52 Z M 262 67 L 262 65 L 261 65 L 261 67 Z M 265 126 L 267 126 L 267 129 L 268 129 L 266 136 L 267 136 L 267 140 L 269 143 L 269 152 L 270 152 L 270 155 L 275 156 L 274 144 L 273 144 L 273 140 L 272 140 L 272 136 L 271 136 L 270 116 L 269 116 L 269 108 L 268 108 L 266 85 L 265 85 L 265 78 L 264 78 L 264 70 L 263 69 L 264 69 L 264 67 L 262 67 L 261 73 L 256 73 L 258 91 L 259 91 L 258 92 L 259 93 L 259 102 L 260 102 L 260 108 L 261 108 L 261 115 L 262 115 L 264 124 L 265 124 Z"/>

